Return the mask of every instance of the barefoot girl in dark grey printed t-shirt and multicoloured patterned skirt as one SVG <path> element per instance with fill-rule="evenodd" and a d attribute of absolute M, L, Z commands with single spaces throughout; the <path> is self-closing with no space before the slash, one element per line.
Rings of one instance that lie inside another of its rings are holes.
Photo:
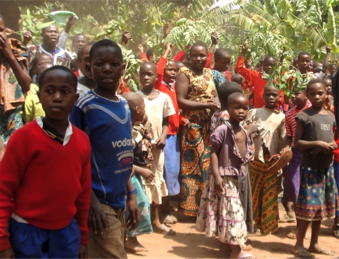
<path fill-rule="evenodd" d="M 333 150 L 336 121 L 323 105 L 326 95 L 324 81 L 311 80 L 306 87 L 307 98 L 312 107 L 297 114 L 295 148 L 304 150 L 300 165 L 300 189 L 295 206 L 299 219 L 297 242 L 292 253 L 299 258 L 311 258 L 310 253 L 333 256 L 328 249 L 318 244 L 321 220 L 334 218 L 339 208 L 338 190 L 333 176 Z M 304 248 L 304 238 L 312 222 L 309 251 Z"/>

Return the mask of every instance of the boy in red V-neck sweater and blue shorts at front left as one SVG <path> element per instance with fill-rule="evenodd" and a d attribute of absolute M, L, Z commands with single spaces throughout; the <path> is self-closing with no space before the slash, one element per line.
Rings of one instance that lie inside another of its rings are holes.
<path fill-rule="evenodd" d="M 66 67 L 44 71 L 46 116 L 8 142 L 0 165 L 0 258 L 87 258 L 91 146 L 68 122 L 76 89 Z"/>

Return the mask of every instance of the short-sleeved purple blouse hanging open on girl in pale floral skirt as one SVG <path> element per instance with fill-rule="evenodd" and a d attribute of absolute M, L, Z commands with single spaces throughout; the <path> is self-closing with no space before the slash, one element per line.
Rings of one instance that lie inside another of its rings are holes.
<path fill-rule="evenodd" d="M 241 126 L 244 130 L 244 127 Z M 219 174 L 221 176 L 230 175 L 237 177 L 245 177 L 246 163 L 250 160 L 252 154 L 250 149 L 250 138 L 244 130 L 246 135 L 246 156 L 243 159 L 235 143 L 235 133 L 232 130 L 232 126 L 226 120 L 226 124 L 217 127 L 210 136 L 210 143 L 214 147 L 221 147 L 218 157 L 219 161 Z M 208 168 L 208 173 L 212 173 L 211 166 Z"/>

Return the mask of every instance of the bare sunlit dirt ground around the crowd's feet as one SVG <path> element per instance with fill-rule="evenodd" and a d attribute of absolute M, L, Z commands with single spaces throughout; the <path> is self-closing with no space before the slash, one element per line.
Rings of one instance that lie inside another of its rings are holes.
<path fill-rule="evenodd" d="M 195 219 L 172 212 L 178 218 L 177 224 L 171 224 L 176 235 L 161 235 L 151 233 L 141 235 L 138 240 L 149 251 L 143 253 L 127 253 L 128 258 L 219 258 L 219 240 L 205 238 L 205 233 L 194 230 Z M 284 208 L 280 204 L 280 217 L 284 215 Z M 333 251 L 334 256 L 316 255 L 315 258 L 339 258 L 339 240 L 334 238 L 331 231 L 333 220 L 322 222 L 320 230 L 320 246 Z M 295 228 L 295 223 L 281 223 L 279 231 L 273 235 L 250 236 L 253 249 L 249 253 L 257 258 L 295 258 L 291 249 L 295 240 L 286 238 L 286 235 Z M 309 240 L 305 240 L 306 248 Z"/>

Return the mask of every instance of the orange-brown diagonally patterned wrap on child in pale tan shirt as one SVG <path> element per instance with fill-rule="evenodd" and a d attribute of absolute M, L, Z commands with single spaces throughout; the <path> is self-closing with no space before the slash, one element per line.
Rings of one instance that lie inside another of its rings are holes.
<path fill-rule="evenodd" d="M 248 163 L 250 186 L 252 188 L 253 224 L 265 234 L 278 230 L 279 209 L 277 200 L 277 173 L 268 175 L 267 169 L 275 160 L 265 163 L 255 158 Z"/>

